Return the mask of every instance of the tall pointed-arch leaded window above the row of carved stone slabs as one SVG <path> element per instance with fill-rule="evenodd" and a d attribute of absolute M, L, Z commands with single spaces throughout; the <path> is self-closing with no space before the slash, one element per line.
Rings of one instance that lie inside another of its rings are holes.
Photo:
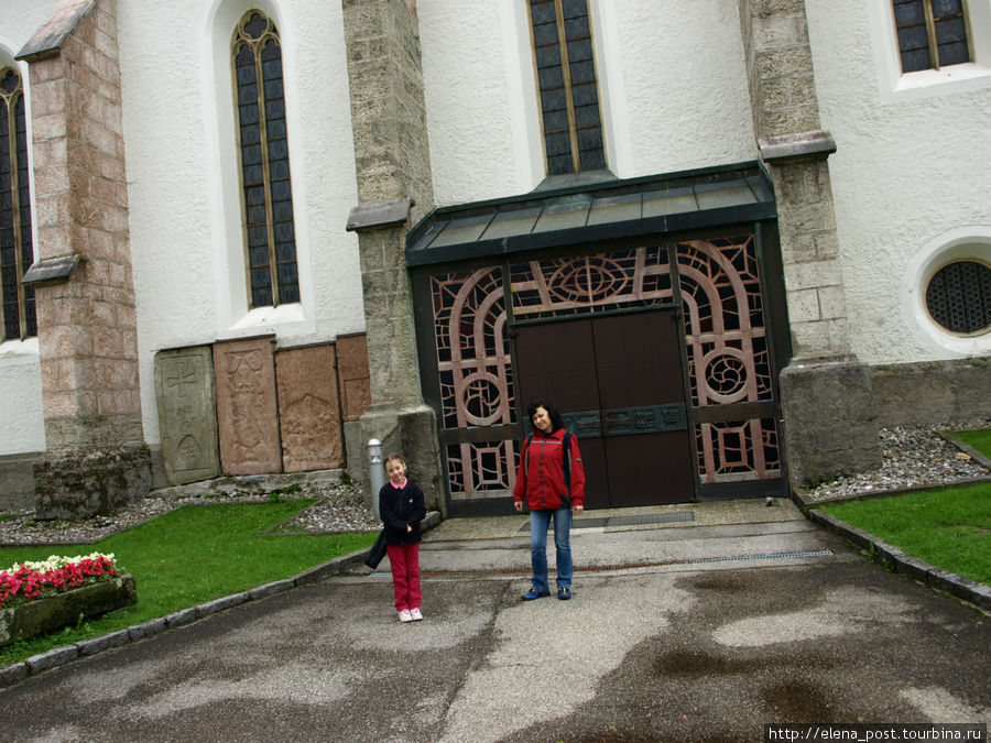
<path fill-rule="evenodd" d="M 300 302 L 282 47 L 275 24 L 249 11 L 235 33 L 238 154 L 252 307 Z"/>

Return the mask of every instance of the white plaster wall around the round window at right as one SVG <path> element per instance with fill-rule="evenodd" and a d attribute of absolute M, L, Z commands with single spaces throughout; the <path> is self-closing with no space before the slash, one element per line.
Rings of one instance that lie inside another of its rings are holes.
<path fill-rule="evenodd" d="M 970 0 L 978 63 L 900 76 L 886 0 L 807 2 L 852 350 L 868 363 L 991 353 L 933 323 L 925 282 L 991 264 L 991 0 Z M 983 41 L 981 41 L 983 40 Z"/>

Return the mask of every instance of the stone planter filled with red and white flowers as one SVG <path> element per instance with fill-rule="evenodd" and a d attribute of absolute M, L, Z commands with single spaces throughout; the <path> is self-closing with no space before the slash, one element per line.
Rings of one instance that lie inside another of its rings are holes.
<path fill-rule="evenodd" d="M 58 557 L 0 571 L 0 646 L 97 616 L 138 600 L 134 577 L 113 555 Z"/>

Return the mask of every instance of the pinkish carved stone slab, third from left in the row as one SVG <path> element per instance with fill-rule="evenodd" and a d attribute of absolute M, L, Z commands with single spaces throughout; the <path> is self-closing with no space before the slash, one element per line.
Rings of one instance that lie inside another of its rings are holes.
<path fill-rule="evenodd" d="M 334 346 L 275 352 L 282 466 L 286 472 L 344 467 Z"/>

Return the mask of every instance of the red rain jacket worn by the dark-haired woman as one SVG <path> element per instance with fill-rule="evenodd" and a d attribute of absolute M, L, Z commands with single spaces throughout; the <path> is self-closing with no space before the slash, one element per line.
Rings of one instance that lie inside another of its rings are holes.
<path fill-rule="evenodd" d="M 585 467 L 581 465 L 581 452 L 578 450 L 578 438 L 571 436 L 571 488 L 567 492 L 564 482 L 564 435 L 558 428 L 547 435 L 534 430 L 533 437 L 524 440 L 524 450 L 520 455 L 520 470 L 516 472 L 516 487 L 513 500 L 526 499 L 531 511 L 548 511 L 564 507 L 562 495 L 569 495 L 570 505 L 585 505 Z M 526 440 L 530 441 L 529 446 Z"/>

